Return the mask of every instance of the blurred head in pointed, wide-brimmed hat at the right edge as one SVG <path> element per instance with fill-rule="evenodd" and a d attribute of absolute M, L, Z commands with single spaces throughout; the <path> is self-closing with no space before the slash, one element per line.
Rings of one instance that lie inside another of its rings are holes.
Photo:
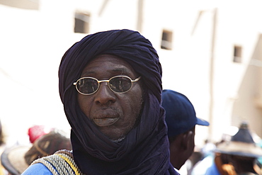
<path fill-rule="evenodd" d="M 217 145 L 215 152 L 222 157 L 222 171 L 223 166 L 231 164 L 237 174 L 262 174 L 261 164 L 258 162 L 258 157 L 262 157 L 262 148 L 254 142 L 246 122 L 240 124 L 239 131 L 230 141 Z"/>

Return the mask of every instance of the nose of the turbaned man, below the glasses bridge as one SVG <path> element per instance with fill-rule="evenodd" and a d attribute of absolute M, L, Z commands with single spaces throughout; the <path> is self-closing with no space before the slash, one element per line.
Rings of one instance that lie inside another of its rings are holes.
<path fill-rule="evenodd" d="M 108 82 L 101 82 L 98 91 L 96 91 L 95 103 L 109 105 L 115 103 L 115 93 L 108 87 Z"/>

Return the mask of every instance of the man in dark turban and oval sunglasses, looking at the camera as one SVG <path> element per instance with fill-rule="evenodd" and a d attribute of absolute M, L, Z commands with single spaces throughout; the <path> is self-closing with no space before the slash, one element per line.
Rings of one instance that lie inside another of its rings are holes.
<path fill-rule="evenodd" d="M 72 152 L 37 160 L 24 174 L 63 174 L 63 168 L 69 174 L 177 174 L 169 161 L 161 73 L 156 50 L 138 32 L 109 30 L 75 43 L 59 67 Z"/>

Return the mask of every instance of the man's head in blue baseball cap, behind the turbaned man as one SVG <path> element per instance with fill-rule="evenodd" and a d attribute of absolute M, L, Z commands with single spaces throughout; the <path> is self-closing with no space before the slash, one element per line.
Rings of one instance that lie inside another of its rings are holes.
<path fill-rule="evenodd" d="M 164 89 L 162 100 L 166 111 L 170 161 L 176 169 L 181 169 L 195 147 L 195 125 L 208 126 L 209 123 L 197 118 L 192 103 L 177 91 Z"/>

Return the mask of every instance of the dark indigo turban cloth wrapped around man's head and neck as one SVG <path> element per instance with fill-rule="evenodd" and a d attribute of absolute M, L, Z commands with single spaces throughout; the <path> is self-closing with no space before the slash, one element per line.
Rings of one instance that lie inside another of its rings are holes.
<path fill-rule="evenodd" d="M 79 108 L 73 82 L 94 57 L 121 57 L 142 76 L 144 106 L 139 124 L 121 142 L 108 139 Z M 76 164 L 84 174 L 176 174 L 169 162 L 169 142 L 161 108 L 161 64 L 152 44 L 132 30 L 87 35 L 72 45 L 59 67 L 59 94 L 72 127 Z"/>

